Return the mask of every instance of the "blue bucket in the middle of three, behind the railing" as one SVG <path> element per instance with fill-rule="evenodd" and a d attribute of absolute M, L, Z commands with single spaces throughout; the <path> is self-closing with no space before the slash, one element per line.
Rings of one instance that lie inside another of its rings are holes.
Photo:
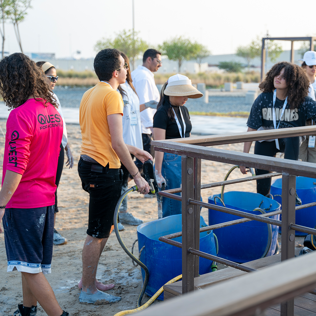
<path fill-rule="evenodd" d="M 214 203 L 214 198 L 220 194 L 209 197 L 209 203 Z M 262 202 L 262 203 L 261 203 Z M 252 214 L 262 214 L 259 211 L 252 211 L 259 207 L 269 209 L 266 212 L 280 210 L 280 204 L 259 193 L 230 191 L 224 193 L 224 203 L 227 208 L 240 210 Z M 216 204 L 223 206 L 219 199 L 216 198 Z M 271 204 L 271 206 L 270 206 Z M 234 221 L 242 217 L 209 210 L 209 225 Z M 279 215 L 271 218 L 279 219 Z M 267 256 L 275 253 L 276 242 L 278 237 L 278 227 L 271 225 L 272 240 Z M 266 223 L 251 221 L 232 225 L 215 230 L 218 239 L 218 257 L 225 258 L 234 262 L 244 263 L 261 258 L 267 247 L 269 230 Z"/>

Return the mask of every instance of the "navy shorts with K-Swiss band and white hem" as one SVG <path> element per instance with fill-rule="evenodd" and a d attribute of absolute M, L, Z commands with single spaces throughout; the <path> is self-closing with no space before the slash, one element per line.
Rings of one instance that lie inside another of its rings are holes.
<path fill-rule="evenodd" d="M 5 209 L 3 230 L 8 272 L 51 273 L 54 205 Z"/>

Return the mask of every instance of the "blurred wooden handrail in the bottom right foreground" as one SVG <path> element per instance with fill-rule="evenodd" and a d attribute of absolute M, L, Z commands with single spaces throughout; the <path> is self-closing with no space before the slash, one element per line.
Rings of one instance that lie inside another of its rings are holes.
<path fill-rule="evenodd" d="M 135 316 L 253 315 L 314 289 L 315 260 L 316 253 L 285 260 L 149 307 Z"/>

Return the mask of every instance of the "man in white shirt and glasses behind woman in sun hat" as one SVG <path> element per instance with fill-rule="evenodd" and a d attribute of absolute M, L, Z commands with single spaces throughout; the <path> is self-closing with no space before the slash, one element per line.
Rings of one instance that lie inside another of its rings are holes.
<path fill-rule="evenodd" d="M 155 49 L 148 49 L 143 55 L 143 65 L 132 71 L 131 76 L 134 88 L 137 92 L 139 103 L 144 104 L 154 100 L 159 102 L 160 94 L 156 87 L 154 72 L 161 67 L 161 52 Z M 153 117 L 156 110 L 147 108 L 140 112 L 142 124 L 143 149 L 150 153 L 150 141 L 153 130 Z M 142 162 L 137 160 L 138 169 L 142 167 Z"/>

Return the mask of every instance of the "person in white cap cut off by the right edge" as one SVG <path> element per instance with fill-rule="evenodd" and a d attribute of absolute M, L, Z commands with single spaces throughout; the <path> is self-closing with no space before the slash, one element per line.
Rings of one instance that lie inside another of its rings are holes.
<path fill-rule="evenodd" d="M 308 51 L 305 52 L 302 60 L 302 68 L 305 70 L 306 75 L 310 82 L 310 88 L 308 90 L 308 96 L 315 100 L 315 91 L 316 91 L 316 52 Z M 311 119 L 306 121 L 306 125 L 313 125 Z M 310 137 L 311 136 L 311 137 Z M 316 163 L 316 149 L 315 149 L 315 136 L 307 135 L 306 139 L 302 142 L 300 147 L 299 159 L 302 161 Z"/>

